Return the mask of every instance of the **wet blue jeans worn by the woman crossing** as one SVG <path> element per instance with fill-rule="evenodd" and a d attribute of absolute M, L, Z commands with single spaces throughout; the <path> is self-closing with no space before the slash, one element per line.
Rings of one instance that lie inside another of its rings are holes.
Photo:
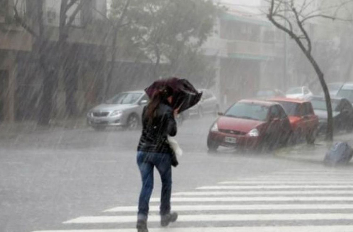
<path fill-rule="evenodd" d="M 137 152 L 137 165 L 141 173 L 142 189 L 138 201 L 138 220 L 147 220 L 149 201 L 153 190 L 153 168 L 156 167 L 162 181 L 160 214 L 170 213 L 172 193 L 172 158 L 170 154 Z"/>

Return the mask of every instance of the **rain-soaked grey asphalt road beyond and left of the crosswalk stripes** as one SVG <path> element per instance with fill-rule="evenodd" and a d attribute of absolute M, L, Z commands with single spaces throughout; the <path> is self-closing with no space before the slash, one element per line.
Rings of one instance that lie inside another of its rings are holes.
<path fill-rule="evenodd" d="M 206 137 L 213 121 L 212 117 L 190 119 L 179 127 L 177 140 L 184 155 L 173 168 L 173 192 L 288 168 L 316 167 L 232 149 L 209 154 Z M 61 229 L 66 228 L 63 221 L 81 215 L 136 205 L 139 135 L 139 131 L 115 128 L 103 132 L 56 128 L 1 139 L 0 231 Z M 155 175 L 154 195 L 159 191 Z"/>

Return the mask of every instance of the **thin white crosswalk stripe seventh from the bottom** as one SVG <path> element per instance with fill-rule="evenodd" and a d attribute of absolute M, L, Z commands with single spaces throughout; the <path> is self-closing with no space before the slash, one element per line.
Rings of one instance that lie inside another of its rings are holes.
<path fill-rule="evenodd" d="M 322 178 L 321 178 L 322 180 Z M 223 181 L 218 184 L 353 184 L 353 180 L 335 180 L 335 181 L 318 181 L 318 180 L 304 180 L 304 179 L 276 179 L 276 180 L 246 180 L 246 181 Z"/>

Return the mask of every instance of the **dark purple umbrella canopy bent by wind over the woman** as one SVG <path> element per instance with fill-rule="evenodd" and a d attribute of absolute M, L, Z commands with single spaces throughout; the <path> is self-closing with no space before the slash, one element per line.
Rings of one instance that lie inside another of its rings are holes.
<path fill-rule="evenodd" d="M 153 94 L 161 88 L 168 86 L 173 89 L 173 108 L 180 107 L 179 112 L 183 112 L 200 101 L 202 92 L 198 92 L 195 87 L 186 79 L 171 77 L 153 82 L 149 87 L 145 88 L 146 94 L 152 98 Z"/>

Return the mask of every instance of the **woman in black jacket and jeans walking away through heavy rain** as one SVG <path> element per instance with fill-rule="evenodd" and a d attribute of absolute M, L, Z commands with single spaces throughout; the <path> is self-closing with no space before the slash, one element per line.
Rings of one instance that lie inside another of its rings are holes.
<path fill-rule="evenodd" d="M 170 212 L 173 150 L 167 142 L 167 136 L 177 134 L 175 116 L 178 113 L 178 110 L 173 110 L 171 106 L 172 95 L 172 88 L 167 86 L 161 88 L 153 94 L 142 114 L 143 129 L 137 149 L 137 164 L 142 177 L 136 225 L 138 232 L 148 232 L 147 218 L 153 190 L 154 167 L 157 168 L 162 180 L 161 226 L 168 226 L 178 218 L 177 213 Z"/>

